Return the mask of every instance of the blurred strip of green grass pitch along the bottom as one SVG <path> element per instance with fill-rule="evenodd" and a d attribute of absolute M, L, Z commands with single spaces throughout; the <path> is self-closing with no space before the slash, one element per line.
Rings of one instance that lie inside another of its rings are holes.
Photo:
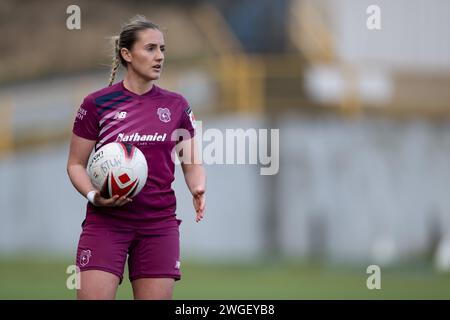
<path fill-rule="evenodd" d="M 0 299 L 74 299 L 66 288 L 70 259 L 0 258 Z M 132 299 L 127 278 L 117 299 Z M 174 299 L 450 299 L 450 274 L 429 266 L 391 268 L 381 289 L 366 286 L 366 268 L 295 262 L 210 264 L 184 262 Z"/>

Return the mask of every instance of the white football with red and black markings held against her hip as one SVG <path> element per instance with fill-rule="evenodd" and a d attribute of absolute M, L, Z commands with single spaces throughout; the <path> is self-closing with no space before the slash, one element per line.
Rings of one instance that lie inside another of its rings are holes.
<path fill-rule="evenodd" d="M 87 172 L 104 198 L 135 197 L 147 181 L 147 160 L 137 147 L 111 142 L 89 157 Z"/>

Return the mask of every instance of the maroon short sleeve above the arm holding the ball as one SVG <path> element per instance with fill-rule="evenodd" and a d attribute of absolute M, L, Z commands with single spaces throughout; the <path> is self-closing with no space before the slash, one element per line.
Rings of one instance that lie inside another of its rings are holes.
<path fill-rule="evenodd" d="M 87 96 L 78 109 L 72 131 L 82 138 L 97 140 L 99 134 L 98 114 L 91 96 Z"/>

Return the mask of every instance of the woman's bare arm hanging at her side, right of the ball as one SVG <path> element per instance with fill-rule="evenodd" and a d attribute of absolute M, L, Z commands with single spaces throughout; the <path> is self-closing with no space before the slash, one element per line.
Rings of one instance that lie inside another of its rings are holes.
<path fill-rule="evenodd" d="M 177 144 L 177 155 L 181 161 L 184 180 L 192 194 L 196 218 L 199 222 L 203 219 L 206 201 L 206 173 L 202 166 L 195 138 L 180 141 Z"/>

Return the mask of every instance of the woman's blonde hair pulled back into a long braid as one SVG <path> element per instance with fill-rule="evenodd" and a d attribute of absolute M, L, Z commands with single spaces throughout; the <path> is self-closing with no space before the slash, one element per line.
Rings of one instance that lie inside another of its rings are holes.
<path fill-rule="evenodd" d="M 144 16 L 136 15 L 131 18 L 130 22 L 122 27 L 122 30 L 118 36 L 112 37 L 112 40 L 114 41 L 114 54 L 108 86 L 112 86 L 114 79 L 116 78 L 119 65 L 122 64 L 124 67 L 127 66 L 128 62 L 122 57 L 120 50 L 122 48 L 131 50 L 134 43 L 138 39 L 138 32 L 145 29 L 160 30 L 159 26 L 148 21 Z"/>

